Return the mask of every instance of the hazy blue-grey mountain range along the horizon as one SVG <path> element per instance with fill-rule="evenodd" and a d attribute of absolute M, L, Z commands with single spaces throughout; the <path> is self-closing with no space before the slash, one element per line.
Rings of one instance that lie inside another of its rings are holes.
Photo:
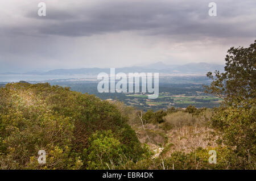
<path fill-rule="evenodd" d="M 167 74 L 206 74 L 208 71 L 220 70 L 224 71 L 224 65 L 208 64 L 208 63 L 190 63 L 185 65 L 167 65 L 163 62 L 157 62 L 155 64 L 145 66 L 133 66 L 126 68 L 117 68 L 115 73 L 167 73 Z M 81 68 L 81 69 L 55 69 L 45 72 L 31 71 L 27 73 L 0 73 L 0 74 L 23 74 L 23 75 L 76 75 L 76 74 L 98 74 L 101 72 L 110 73 L 110 68 Z"/>

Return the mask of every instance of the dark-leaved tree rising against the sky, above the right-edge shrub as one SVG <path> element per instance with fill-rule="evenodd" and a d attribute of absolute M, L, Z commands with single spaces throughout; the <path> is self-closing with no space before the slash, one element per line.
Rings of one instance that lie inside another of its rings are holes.
<path fill-rule="evenodd" d="M 248 48 L 230 48 L 225 58 L 225 72 L 208 72 L 212 79 L 206 92 L 224 98 L 225 103 L 235 100 L 255 99 L 256 87 L 256 40 Z"/>

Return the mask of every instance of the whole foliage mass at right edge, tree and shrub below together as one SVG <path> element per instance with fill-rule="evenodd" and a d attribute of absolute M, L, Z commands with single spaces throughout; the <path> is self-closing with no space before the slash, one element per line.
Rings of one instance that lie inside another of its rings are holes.
<path fill-rule="evenodd" d="M 212 125 L 223 133 L 223 141 L 243 159 L 245 169 L 256 165 L 256 40 L 248 48 L 230 48 L 225 72 L 212 73 L 207 92 L 224 98 L 212 118 Z"/>

